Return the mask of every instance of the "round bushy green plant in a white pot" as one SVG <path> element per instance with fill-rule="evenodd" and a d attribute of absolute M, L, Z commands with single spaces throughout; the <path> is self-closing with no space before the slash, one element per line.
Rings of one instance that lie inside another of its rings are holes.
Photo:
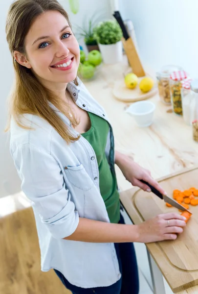
<path fill-rule="evenodd" d="M 94 27 L 93 32 L 104 63 L 112 64 L 122 61 L 122 30 L 118 23 L 114 20 L 101 22 Z"/>

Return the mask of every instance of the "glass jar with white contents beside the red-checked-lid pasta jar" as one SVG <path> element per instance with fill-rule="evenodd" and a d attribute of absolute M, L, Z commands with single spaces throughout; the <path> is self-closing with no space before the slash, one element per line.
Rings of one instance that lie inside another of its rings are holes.
<path fill-rule="evenodd" d="M 191 78 L 183 80 L 181 89 L 182 112 L 184 122 L 192 125 L 195 120 L 196 93 L 191 90 Z"/>

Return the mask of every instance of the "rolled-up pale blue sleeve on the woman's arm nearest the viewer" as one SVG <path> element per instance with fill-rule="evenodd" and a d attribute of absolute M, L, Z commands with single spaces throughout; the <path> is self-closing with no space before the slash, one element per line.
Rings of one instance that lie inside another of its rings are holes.
<path fill-rule="evenodd" d="M 70 236 L 78 226 L 79 215 L 58 162 L 29 144 L 18 146 L 12 156 L 22 180 L 22 191 L 34 203 L 41 221 L 54 238 Z"/>

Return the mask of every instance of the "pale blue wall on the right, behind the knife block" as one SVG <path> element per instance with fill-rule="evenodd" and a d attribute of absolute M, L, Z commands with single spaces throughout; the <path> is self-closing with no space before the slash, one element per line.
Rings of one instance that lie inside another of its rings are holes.
<path fill-rule="evenodd" d="M 135 27 L 143 60 L 157 71 L 177 64 L 198 77 L 197 0 L 119 0 Z"/>

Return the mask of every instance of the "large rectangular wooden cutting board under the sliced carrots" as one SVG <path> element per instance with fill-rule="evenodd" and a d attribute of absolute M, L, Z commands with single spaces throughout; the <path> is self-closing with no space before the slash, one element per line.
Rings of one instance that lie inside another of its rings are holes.
<path fill-rule="evenodd" d="M 198 188 L 198 167 L 186 169 L 158 180 L 169 196 L 174 189 Z M 164 201 L 153 193 L 139 188 L 122 192 L 121 201 L 135 224 L 161 213 L 177 212 L 168 208 Z M 193 215 L 184 232 L 174 241 L 147 244 L 156 264 L 174 293 L 198 285 L 198 206 L 189 208 Z"/>

